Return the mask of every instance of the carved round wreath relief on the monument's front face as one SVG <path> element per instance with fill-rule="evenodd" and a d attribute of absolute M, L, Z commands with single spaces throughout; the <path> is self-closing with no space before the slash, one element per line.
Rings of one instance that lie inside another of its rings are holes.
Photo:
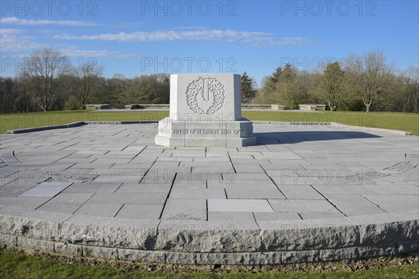
<path fill-rule="evenodd" d="M 198 80 L 194 80 L 188 85 L 188 88 L 186 89 L 186 102 L 193 112 L 211 115 L 223 107 L 225 93 L 224 84 L 219 82 L 216 78 L 200 77 Z M 212 97 L 214 97 L 214 100 L 207 110 L 204 110 L 199 106 L 198 100 L 202 99 L 206 102 L 210 102 Z"/>

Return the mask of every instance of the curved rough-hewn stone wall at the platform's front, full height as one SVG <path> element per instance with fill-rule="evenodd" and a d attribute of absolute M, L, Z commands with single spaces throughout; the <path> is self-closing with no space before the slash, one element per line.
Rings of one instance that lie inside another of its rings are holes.
<path fill-rule="evenodd" d="M 419 252 L 418 211 L 259 228 L 233 220 L 127 220 L 6 207 L 0 224 L 2 245 L 136 262 L 293 264 Z"/>

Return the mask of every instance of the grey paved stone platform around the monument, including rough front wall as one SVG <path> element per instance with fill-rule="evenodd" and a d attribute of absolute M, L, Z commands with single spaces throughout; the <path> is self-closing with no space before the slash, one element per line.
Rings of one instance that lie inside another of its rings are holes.
<path fill-rule="evenodd" d="M 171 264 L 419 252 L 418 137 L 253 128 L 237 148 L 157 146 L 156 123 L 1 135 L 0 242 Z"/>

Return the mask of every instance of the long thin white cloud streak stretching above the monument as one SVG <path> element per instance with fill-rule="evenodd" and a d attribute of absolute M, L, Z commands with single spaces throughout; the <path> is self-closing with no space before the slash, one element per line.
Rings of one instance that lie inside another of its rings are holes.
<path fill-rule="evenodd" d="M 152 42 L 169 40 L 226 40 L 228 42 L 247 43 L 253 46 L 261 45 L 298 45 L 311 42 L 309 38 L 285 37 L 276 38 L 272 33 L 254 31 L 235 31 L 217 29 L 198 30 L 168 30 L 168 31 L 136 31 L 133 33 L 101 33 L 97 35 L 56 35 L 55 39 L 63 40 L 110 40 L 118 42 Z"/>

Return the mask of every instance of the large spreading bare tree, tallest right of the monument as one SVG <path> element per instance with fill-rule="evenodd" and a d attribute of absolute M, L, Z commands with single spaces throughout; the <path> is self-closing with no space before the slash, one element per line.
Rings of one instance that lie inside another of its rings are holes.
<path fill-rule="evenodd" d="M 351 86 L 360 95 L 367 112 L 379 93 L 391 82 L 392 66 L 385 63 L 383 51 L 367 52 L 362 56 L 348 58 L 348 73 Z"/>

